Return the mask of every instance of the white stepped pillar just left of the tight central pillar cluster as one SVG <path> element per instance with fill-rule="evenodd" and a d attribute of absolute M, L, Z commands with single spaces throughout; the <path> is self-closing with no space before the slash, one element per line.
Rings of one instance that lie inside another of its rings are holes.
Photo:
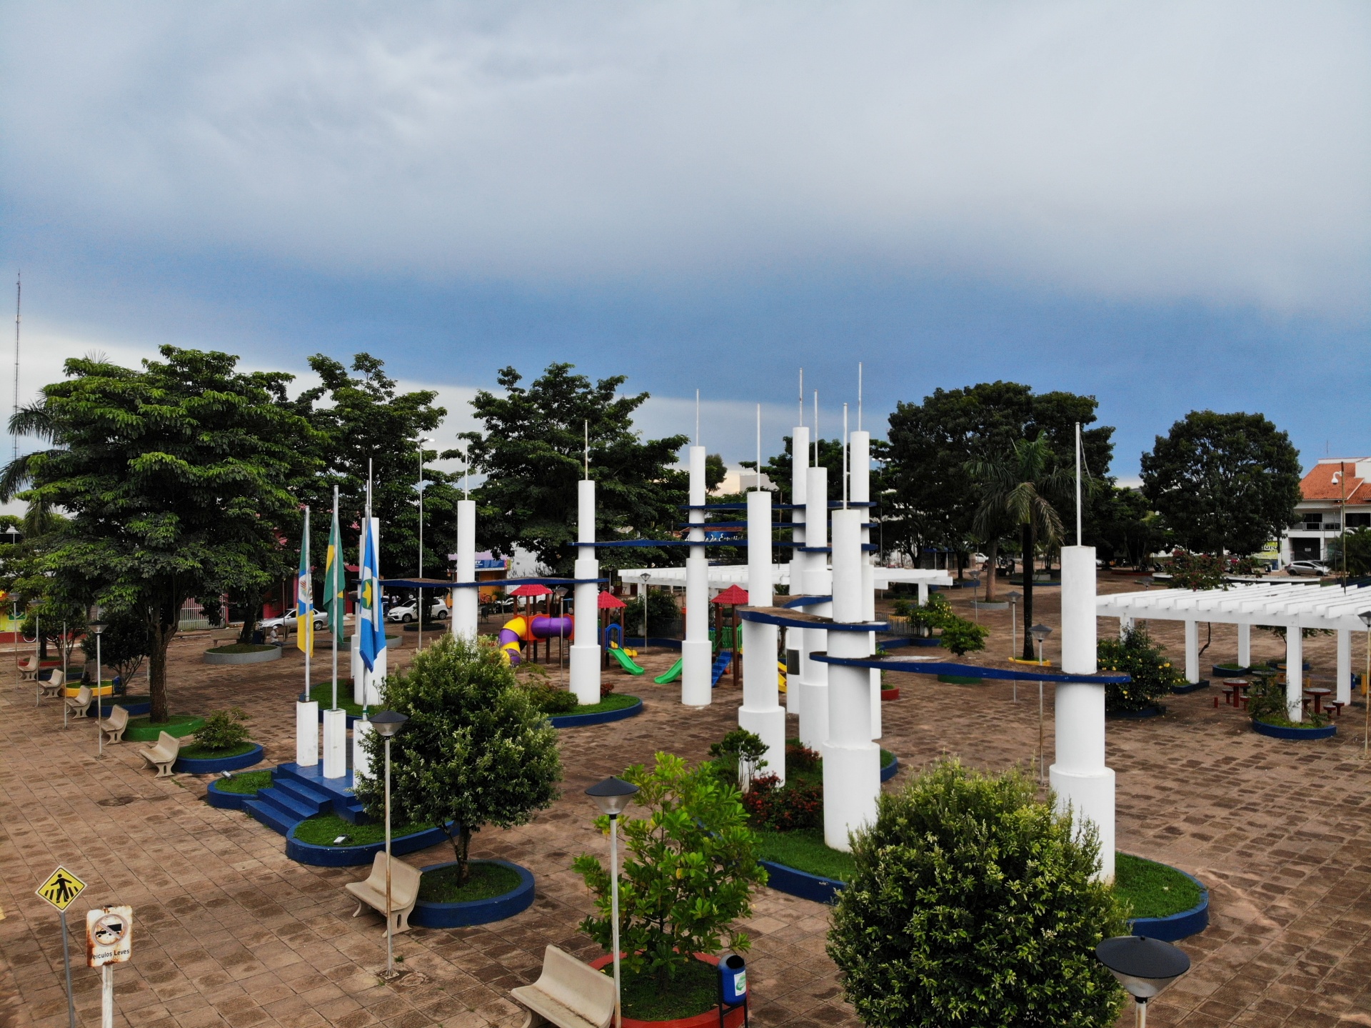
<path fill-rule="evenodd" d="M 747 605 L 771 607 L 772 508 L 764 489 L 747 494 Z M 743 622 L 743 705 L 738 727 L 760 736 L 766 745 L 766 773 L 786 781 L 786 708 L 776 679 L 776 626 Z"/>

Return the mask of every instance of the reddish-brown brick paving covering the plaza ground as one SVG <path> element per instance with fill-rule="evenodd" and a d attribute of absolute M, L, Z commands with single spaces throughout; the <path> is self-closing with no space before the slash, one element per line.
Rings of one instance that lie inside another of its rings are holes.
<path fill-rule="evenodd" d="M 1101 587 L 1135 586 L 1105 581 Z M 960 590 L 954 597 L 957 605 L 968 598 Z M 1054 589 L 1039 590 L 1035 620 L 1056 627 L 1057 603 Z M 1008 615 L 980 618 L 993 634 L 978 663 L 999 663 L 1009 651 Z M 1115 627 L 1101 622 L 1101 631 Z M 1179 662 L 1179 624 L 1153 627 Z M 1049 659 L 1057 637 L 1049 640 Z M 399 653 L 402 664 L 411 638 Z M 291 759 L 299 653 L 256 667 L 208 667 L 200 660 L 207 645 L 204 635 L 175 644 L 173 710 L 243 705 L 254 715 L 254 738 L 266 745 L 263 766 Z M 1234 648 L 1233 630 L 1216 626 L 1205 667 L 1230 659 Z M 1316 674 L 1331 671 L 1331 638 L 1311 640 L 1305 651 Z M 1253 652 L 1281 655 L 1283 644 L 1253 633 Z M 655 674 L 673 659 L 648 652 L 640 663 Z M 1355 660 L 1364 660 L 1361 641 Z M 354 920 L 355 904 L 343 892 L 343 883 L 365 869 L 288 861 L 281 836 L 203 802 L 206 777 L 154 780 L 137 744 L 107 748 L 96 759 L 93 725 L 62 730 L 56 701 L 34 708 L 26 689 L 0 685 L 0 906 L 7 914 L 0 921 L 0 1027 L 66 1024 L 58 918 L 33 895 L 59 862 L 89 883 L 73 906 L 73 925 L 90 906 L 134 907 L 134 958 L 115 973 L 119 1024 L 518 1024 L 507 990 L 536 976 L 543 946 L 557 943 L 587 959 L 599 954 L 577 931 L 591 902 L 569 870 L 576 854 L 605 848 L 581 789 L 655 749 L 698 759 L 736 719 L 733 689 L 720 688 L 713 707 L 691 711 L 679 705 L 675 685 L 617 670 L 606 675 L 642 694 L 644 714 L 563 730 L 562 799 L 522 829 L 487 830 L 473 843 L 478 856 L 531 867 L 535 904 L 495 925 L 399 936 L 409 974 L 391 985 L 377 977 L 385 958 L 380 918 Z M 902 699 L 884 705 L 883 744 L 905 769 L 943 754 L 984 769 L 1032 764 L 1035 688 L 1020 686 L 1015 703 L 1008 684 L 893 679 Z M 1046 700 L 1050 760 L 1050 688 Z M 1211 928 L 1183 943 L 1194 969 L 1153 1005 L 1152 1024 L 1371 1025 L 1371 777 L 1360 719 L 1359 707 L 1334 740 L 1283 744 L 1254 736 L 1237 711 L 1215 710 L 1211 696 L 1196 693 L 1175 697 L 1165 718 L 1111 722 L 1120 848 L 1197 874 L 1213 902 Z M 905 774 L 887 788 L 898 788 Z M 424 865 L 448 854 L 435 847 L 406 859 Z M 824 955 L 823 906 L 764 889 L 747 928 L 760 1025 L 857 1024 Z M 97 1024 L 99 976 L 78 951 L 77 961 L 78 1020 Z"/>

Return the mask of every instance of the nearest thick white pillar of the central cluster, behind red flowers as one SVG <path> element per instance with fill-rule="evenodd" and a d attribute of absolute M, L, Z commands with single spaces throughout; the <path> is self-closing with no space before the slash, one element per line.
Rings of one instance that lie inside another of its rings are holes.
<path fill-rule="evenodd" d="M 834 622 L 860 623 L 861 523 L 865 509 L 834 511 Z M 871 633 L 829 631 L 831 656 L 871 656 Z M 849 852 L 847 833 L 876 819 L 880 747 L 871 733 L 871 674 L 828 666 L 828 740 L 824 743 L 824 843 Z"/>

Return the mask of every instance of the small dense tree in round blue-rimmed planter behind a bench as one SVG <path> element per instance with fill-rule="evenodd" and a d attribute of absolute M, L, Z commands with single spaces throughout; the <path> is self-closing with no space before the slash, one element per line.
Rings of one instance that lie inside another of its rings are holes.
<path fill-rule="evenodd" d="M 443 635 L 385 679 L 381 705 L 409 716 L 391 748 L 391 817 L 447 830 L 458 885 L 473 832 L 525 825 L 557 799 L 557 729 L 488 640 Z M 383 740 L 369 733 L 365 745 L 380 769 Z M 369 814 L 384 811 L 380 775 L 358 778 L 354 792 Z"/>

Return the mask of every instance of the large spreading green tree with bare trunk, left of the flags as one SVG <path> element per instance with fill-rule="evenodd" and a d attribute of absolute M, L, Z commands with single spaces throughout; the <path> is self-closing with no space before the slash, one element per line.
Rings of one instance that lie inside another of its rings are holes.
<path fill-rule="evenodd" d="M 289 568 L 280 537 L 298 524 L 287 486 L 313 464 L 310 425 L 287 405 L 289 375 L 163 346 L 141 371 L 66 362 L 66 382 L 11 419 L 49 447 L 12 461 L 0 498 L 66 511 L 38 559 L 59 596 L 145 619 L 151 718 L 167 718 L 166 653 L 181 605 L 265 589 Z"/>

